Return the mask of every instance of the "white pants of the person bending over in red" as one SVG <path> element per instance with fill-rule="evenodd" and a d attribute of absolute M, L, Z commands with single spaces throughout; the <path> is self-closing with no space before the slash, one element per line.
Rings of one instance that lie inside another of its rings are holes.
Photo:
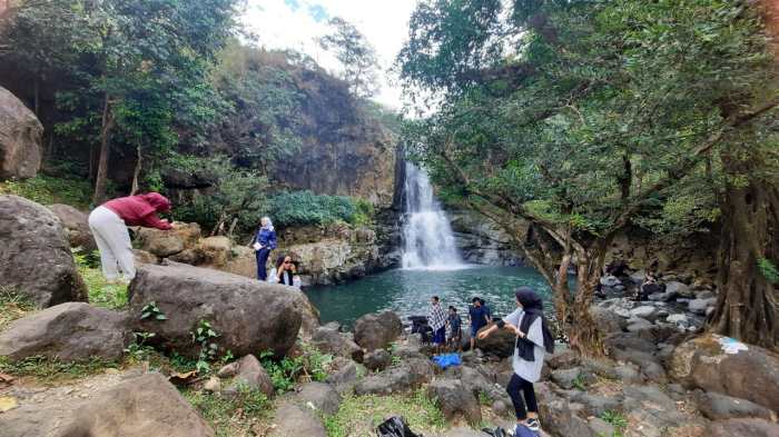
<path fill-rule="evenodd" d="M 106 279 L 117 279 L 117 266 L 127 280 L 135 278 L 136 266 L 130 234 L 121 218 L 106 207 L 97 207 L 89 215 L 89 229 L 92 230 L 95 242 L 100 249 L 100 265 Z"/>

